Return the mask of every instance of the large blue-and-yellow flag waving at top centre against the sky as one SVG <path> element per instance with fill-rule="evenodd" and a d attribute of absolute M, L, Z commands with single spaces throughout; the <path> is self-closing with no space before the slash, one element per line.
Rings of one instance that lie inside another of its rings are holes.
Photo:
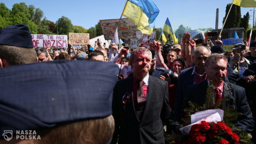
<path fill-rule="evenodd" d="M 122 16 L 134 22 L 143 34 L 152 34 L 158 13 L 152 0 L 127 0 Z"/>

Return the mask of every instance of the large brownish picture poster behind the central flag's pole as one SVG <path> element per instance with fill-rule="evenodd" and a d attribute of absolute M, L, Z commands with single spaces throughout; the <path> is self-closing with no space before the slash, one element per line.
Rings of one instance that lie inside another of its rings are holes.
<path fill-rule="evenodd" d="M 111 40 L 114 36 L 116 27 L 120 19 L 100 20 L 100 26 L 106 40 Z M 136 29 L 134 22 L 128 18 L 122 18 L 118 26 L 119 39 L 136 38 Z"/>

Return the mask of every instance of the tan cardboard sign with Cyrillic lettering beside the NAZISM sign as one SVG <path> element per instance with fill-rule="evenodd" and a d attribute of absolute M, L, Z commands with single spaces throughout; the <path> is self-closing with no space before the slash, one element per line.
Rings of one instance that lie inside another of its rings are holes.
<path fill-rule="evenodd" d="M 89 42 L 89 34 L 86 33 L 68 33 L 68 41 L 70 44 L 88 44 Z"/>

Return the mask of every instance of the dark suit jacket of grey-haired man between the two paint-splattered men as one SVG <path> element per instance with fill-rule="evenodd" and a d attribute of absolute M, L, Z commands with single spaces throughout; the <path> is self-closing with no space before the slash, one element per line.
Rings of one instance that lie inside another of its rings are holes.
<path fill-rule="evenodd" d="M 178 78 L 174 105 L 174 118 L 178 121 L 180 121 L 180 117 L 183 115 L 182 105 L 187 95 L 188 86 L 194 83 L 194 75 L 192 75 L 194 67 L 192 66 L 182 70 Z"/>

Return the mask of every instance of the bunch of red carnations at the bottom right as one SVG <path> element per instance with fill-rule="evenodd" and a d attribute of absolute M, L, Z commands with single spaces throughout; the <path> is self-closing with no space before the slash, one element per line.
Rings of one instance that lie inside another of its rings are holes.
<path fill-rule="evenodd" d="M 243 144 L 239 136 L 223 122 L 206 122 L 194 124 L 187 140 L 176 141 L 177 144 Z"/>

